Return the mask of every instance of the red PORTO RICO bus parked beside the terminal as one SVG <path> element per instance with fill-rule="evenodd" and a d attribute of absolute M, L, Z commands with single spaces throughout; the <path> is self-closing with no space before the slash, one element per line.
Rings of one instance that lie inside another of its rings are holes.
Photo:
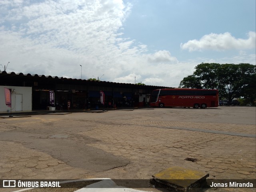
<path fill-rule="evenodd" d="M 218 107 L 217 89 L 156 89 L 150 96 L 151 107 Z"/>

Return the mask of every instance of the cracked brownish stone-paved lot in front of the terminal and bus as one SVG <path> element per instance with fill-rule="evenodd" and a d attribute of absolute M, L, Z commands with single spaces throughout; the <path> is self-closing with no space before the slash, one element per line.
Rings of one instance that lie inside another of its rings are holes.
<path fill-rule="evenodd" d="M 216 179 L 256 179 L 256 108 L 156 108 L 0 119 L 0 146 L 1 179 L 149 179 L 171 166 Z M 232 189 L 216 191 L 223 190 Z"/>

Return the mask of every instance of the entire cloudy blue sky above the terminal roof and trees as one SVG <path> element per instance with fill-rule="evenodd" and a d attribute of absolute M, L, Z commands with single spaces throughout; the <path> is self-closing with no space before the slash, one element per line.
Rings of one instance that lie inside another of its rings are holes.
<path fill-rule="evenodd" d="M 255 0 L 0 0 L 8 73 L 178 87 L 200 63 L 256 65 Z"/>

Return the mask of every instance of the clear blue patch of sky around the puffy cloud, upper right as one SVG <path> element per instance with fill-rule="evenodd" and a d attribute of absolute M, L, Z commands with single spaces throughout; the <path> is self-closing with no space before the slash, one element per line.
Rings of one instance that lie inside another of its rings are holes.
<path fill-rule="evenodd" d="M 247 39 L 255 32 L 255 1 L 240 0 L 154 0 L 130 1 L 133 8 L 124 24 L 124 37 L 140 40 L 150 51 L 166 49 L 184 59 L 205 55 L 226 55 L 225 52 L 178 49 L 189 40 L 200 40 L 207 34 L 229 32 L 234 38 Z M 207 54 L 206 54 L 207 53 Z M 222 54 L 223 53 L 223 54 Z M 236 54 L 234 51 L 228 54 Z M 255 53 L 255 49 L 251 50 Z M 181 59 L 181 58 L 180 58 Z"/>

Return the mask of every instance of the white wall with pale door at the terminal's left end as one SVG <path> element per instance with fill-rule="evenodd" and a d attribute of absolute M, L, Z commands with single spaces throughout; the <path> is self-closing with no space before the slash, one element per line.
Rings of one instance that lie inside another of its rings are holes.
<path fill-rule="evenodd" d="M 11 110 L 5 104 L 4 88 L 12 89 L 12 111 L 32 111 L 32 87 L 0 86 L 0 112 Z"/>

